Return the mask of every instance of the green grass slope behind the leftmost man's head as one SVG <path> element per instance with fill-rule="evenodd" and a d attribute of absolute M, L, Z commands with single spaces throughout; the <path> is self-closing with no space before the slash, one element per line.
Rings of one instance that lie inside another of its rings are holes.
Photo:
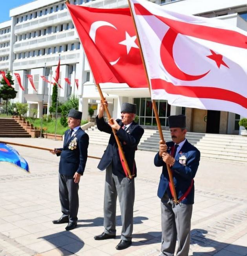
<path fill-rule="evenodd" d="M 32 123 L 33 126 L 37 127 L 37 129 L 40 129 L 41 126 L 41 119 L 40 118 L 25 118 L 27 121 L 29 121 L 29 123 Z M 86 120 L 82 120 L 81 125 L 84 123 L 87 123 L 88 121 Z M 43 119 L 42 122 L 42 130 L 45 133 L 55 133 L 55 125 L 56 122 L 55 120 L 51 120 L 51 121 L 46 121 L 46 119 Z M 63 135 L 64 132 L 66 130 L 68 130 L 68 126 L 67 127 L 63 127 L 60 123 L 60 118 L 57 119 L 57 134 Z"/>

